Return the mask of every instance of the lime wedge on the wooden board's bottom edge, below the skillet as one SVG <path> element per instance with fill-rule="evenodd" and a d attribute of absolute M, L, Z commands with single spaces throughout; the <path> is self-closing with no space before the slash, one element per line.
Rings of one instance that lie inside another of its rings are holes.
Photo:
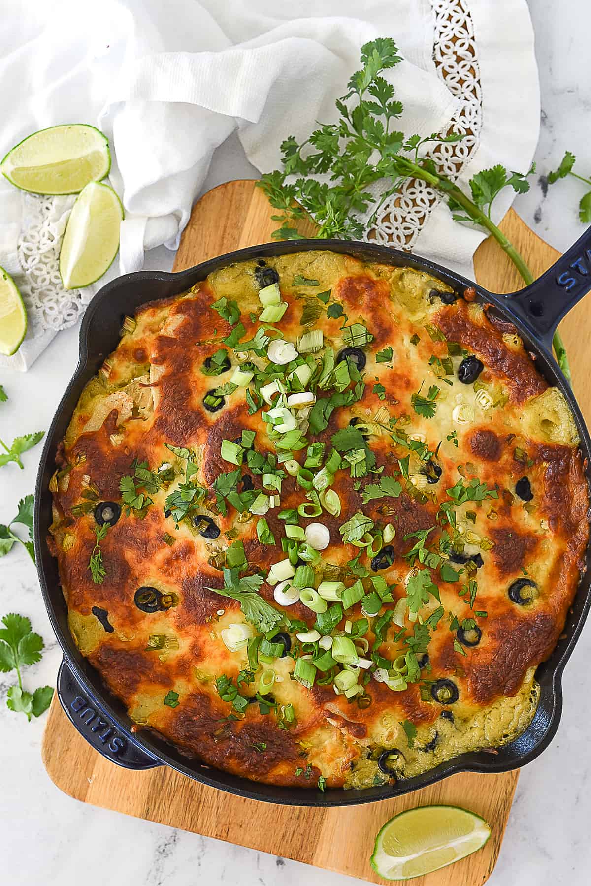
<path fill-rule="evenodd" d="M 486 821 L 474 812 L 459 806 L 418 806 L 386 821 L 369 860 L 385 880 L 409 880 L 465 858 L 490 835 Z"/>

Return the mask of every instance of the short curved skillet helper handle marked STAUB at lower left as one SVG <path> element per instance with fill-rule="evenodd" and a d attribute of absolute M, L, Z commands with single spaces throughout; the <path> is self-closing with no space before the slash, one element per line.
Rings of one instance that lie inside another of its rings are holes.
<path fill-rule="evenodd" d="M 129 739 L 108 714 L 76 680 L 74 672 L 62 660 L 58 671 L 58 699 L 66 715 L 78 732 L 89 744 L 107 760 L 125 769 L 152 769 L 161 766 L 152 757 Z"/>

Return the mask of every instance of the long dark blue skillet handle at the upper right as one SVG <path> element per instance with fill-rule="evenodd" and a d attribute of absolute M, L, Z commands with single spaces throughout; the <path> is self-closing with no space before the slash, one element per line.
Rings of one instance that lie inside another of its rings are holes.
<path fill-rule="evenodd" d="M 591 228 L 535 280 L 505 298 L 509 310 L 552 353 L 552 337 L 564 315 L 591 289 Z"/>

